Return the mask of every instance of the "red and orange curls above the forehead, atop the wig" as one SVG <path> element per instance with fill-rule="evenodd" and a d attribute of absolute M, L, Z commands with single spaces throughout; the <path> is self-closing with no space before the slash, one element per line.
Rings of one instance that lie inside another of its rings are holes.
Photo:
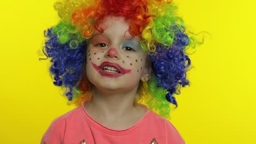
<path fill-rule="evenodd" d="M 148 15 L 146 0 L 102 0 L 89 8 L 75 10 L 71 22 L 89 39 L 94 29 L 104 31 L 99 23 L 107 16 L 123 16 L 125 20 L 130 20 L 129 32 L 132 37 L 141 34 L 149 23 L 148 18 L 152 17 Z M 89 25 L 94 25 L 94 28 L 88 27 Z"/>

